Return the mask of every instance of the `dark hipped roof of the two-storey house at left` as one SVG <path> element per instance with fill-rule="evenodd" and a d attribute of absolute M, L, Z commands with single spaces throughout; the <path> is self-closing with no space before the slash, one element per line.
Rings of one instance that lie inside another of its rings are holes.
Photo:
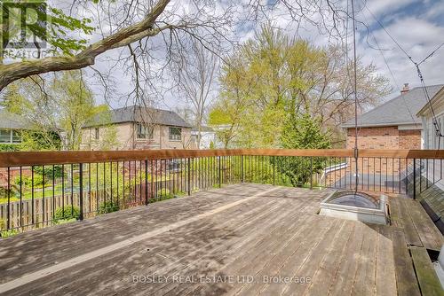
<path fill-rule="evenodd" d="M 131 105 L 115 110 L 109 114 L 101 113 L 83 128 L 124 122 L 145 122 L 148 124 L 172 127 L 191 128 L 192 126 L 173 111 Z"/>

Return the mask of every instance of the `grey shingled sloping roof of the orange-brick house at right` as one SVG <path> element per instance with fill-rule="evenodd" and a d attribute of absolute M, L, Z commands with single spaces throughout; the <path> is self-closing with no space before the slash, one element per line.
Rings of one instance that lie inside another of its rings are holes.
<path fill-rule="evenodd" d="M 427 92 L 433 97 L 444 84 L 427 86 Z M 398 125 L 421 125 L 421 119 L 416 113 L 426 104 L 424 90 L 421 87 L 408 90 L 408 92 L 392 98 L 383 105 L 379 105 L 369 112 L 358 117 L 358 127 L 388 127 Z M 343 128 L 353 128 L 354 119 L 346 121 Z"/>

